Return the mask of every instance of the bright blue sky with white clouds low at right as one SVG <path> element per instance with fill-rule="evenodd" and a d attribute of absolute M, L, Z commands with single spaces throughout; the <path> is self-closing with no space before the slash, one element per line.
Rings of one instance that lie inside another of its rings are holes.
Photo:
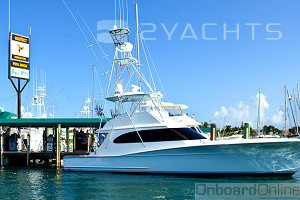
<path fill-rule="evenodd" d="M 80 16 L 100 44 L 113 48 L 107 31 L 115 20 L 114 0 L 66 3 L 88 40 L 95 41 Z M 133 1 L 127 4 L 130 42 L 135 43 Z M 263 125 L 284 127 L 284 85 L 292 94 L 299 83 L 299 1 L 138 0 L 138 5 L 142 35 L 162 86 L 157 76 L 154 82 L 168 97 L 164 101 L 188 105 L 185 112 L 200 122 L 218 127 L 248 122 L 255 127 L 261 87 Z M 123 19 L 127 21 L 126 14 Z M 7 70 L 8 0 L 0 2 L 0 27 L 0 107 L 16 113 L 16 92 Z M 84 100 L 91 98 L 94 64 L 96 98 L 106 87 L 101 67 L 63 1 L 11 0 L 11 31 L 28 36 L 30 27 L 31 81 L 22 105 L 31 101 L 33 80 L 38 77 L 41 84 L 46 73 L 47 112 L 54 106 L 55 117 L 76 117 Z M 109 71 L 100 49 L 93 48 Z M 103 50 L 112 59 L 113 51 Z M 141 62 L 147 71 L 147 60 L 142 57 Z"/>

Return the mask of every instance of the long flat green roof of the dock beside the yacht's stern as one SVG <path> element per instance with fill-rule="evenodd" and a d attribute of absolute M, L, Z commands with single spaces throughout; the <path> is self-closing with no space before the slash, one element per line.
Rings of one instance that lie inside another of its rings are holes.
<path fill-rule="evenodd" d="M 0 113 L 1 114 L 1 113 Z M 1 119 L 0 126 L 9 127 L 56 127 L 61 124 L 62 128 L 66 127 L 99 127 L 110 119 L 102 120 L 99 118 L 22 118 L 22 119 Z"/>

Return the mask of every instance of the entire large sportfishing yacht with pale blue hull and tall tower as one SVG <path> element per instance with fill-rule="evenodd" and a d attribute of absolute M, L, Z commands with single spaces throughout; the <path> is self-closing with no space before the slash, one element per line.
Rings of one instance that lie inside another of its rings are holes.
<path fill-rule="evenodd" d="M 86 156 L 64 157 L 65 170 L 193 175 L 292 175 L 298 170 L 299 139 L 209 141 L 174 120 L 163 108 L 163 95 L 140 70 L 138 26 L 137 59 L 128 28 L 114 26 L 110 34 L 115 55 L 106 100 L 114 104 L 113 119 L 99 130 L 106 135 L 100 147 Z M 126 69 L 132 72 L 127 83 Z"/>

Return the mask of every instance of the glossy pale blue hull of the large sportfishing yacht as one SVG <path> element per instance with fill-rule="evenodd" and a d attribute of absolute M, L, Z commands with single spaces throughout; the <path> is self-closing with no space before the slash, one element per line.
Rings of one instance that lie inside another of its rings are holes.
<path fill-rule="evenodd" d="M 299 142 L 237 143 L 161 149 L 122 156 L 65 157 L 68 171 L 198 175 L 292 175 Z"/>

